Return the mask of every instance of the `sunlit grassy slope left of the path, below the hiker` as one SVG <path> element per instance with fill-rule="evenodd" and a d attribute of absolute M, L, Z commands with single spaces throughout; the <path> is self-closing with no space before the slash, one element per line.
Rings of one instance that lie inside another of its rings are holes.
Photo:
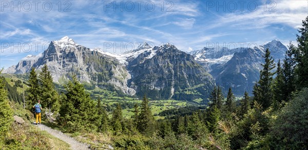
<path fill-rule="evenodd" d="M 33 114 L 21 105 L 10 102 L 14 115 L 25 120 L 24 124 L 12 124 L 7 139 L 0 139 L 0 149 L 70 149 L 69 144 L 32 125 Z M 1 144 L 3 143 L 3 144 Z"/>

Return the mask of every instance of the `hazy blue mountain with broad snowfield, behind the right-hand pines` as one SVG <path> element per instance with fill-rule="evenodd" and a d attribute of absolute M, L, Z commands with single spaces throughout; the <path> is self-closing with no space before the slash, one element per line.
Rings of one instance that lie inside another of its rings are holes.
<path fill-rule="evenodd" d="M 254 48 L 237 48 L 227 52 L 216 50 L 213 55 L 206 48 L 192 52 L 195 60 L 204 68 L 209 70 L 216 80 L 227 93 L 228 88 L 232 87 L 233 92 L 242 96 L 245 91 L 252 94 L 256 81 L 259 80 L 261 63 L 264 63 L 262 55 L 264 50 L 269 49 L 275 62 L 284 58 L 287 48 L 278 40 L 268 42 L 266 45 Z M 200 52 L 207 50 L 203 55 Z M 212 49 L 213 50 L 213 49 Z M 228 50 L 228 49 L 225 49 Z"/>

